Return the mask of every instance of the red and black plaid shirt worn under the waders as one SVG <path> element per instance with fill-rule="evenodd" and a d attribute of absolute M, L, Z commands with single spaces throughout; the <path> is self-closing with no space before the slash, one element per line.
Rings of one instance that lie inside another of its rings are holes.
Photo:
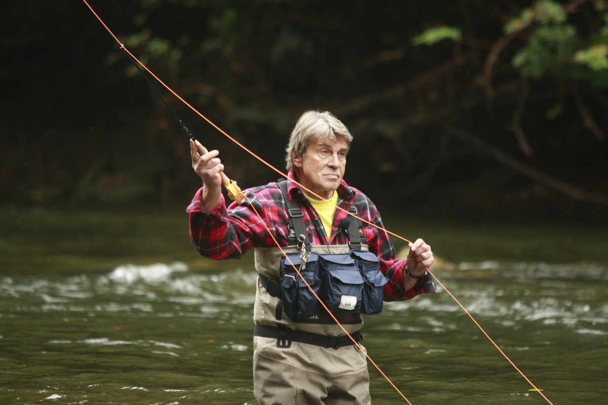
<path fill-rule="evenodd" d="M 289 178 L 295 179 L 293 171 L 289 172 Z M 215 260 L 240 259 L 251 248 L 277 247 L 250 205 L 255 207 L 281 247 L 288 245 L 289 214 L 277 183 L 268 183 L 268 185 L 250 188 L 247 191 L 249 191 L 250 203 L 246 201 L 243 205 L 237 205 L 233 202 L 226 209 L 224 196 L 222 196 L 221 202 L 211 213 L 204 212 L 201 200 L 202 188 L 196 192 L 187 212 L 190 214 L 190 239 L 199 254 Z M 339 196 L 337 206 L 348 212 L 351 205 L 354 204 L 359 217 L 384 228 L 380 213 L 365 194 L 348 186 L 344 180 L 337 192 Z M 338 225 L 342 219 L 348 216 L 347 212 L 336 209 L 331 240 L 328 240 L 325 228 L 313 206 L 302 195 L 299 186 L 291 180 L 288 180 L 288 193 L 291 199 L 297 199 L 299 202 L 304 213 L 304 222 L 307 225 L 314 224 L 313 240 L 311 241 L 313 245 L 348 243 L 344 232 L 338 232 Z M 365 222 L 363 225 L 368 248 L 378 256 L 380 269 L 389 279 L 384 286 L 385 301 L 410 299 L 418 294 L 437 292 L 430 276 L 423 277 L 411 290 L 405 291 L 403 277 L 406 262 L 395 259 L 395 247 L 389 239 L 389 234 Z"/>

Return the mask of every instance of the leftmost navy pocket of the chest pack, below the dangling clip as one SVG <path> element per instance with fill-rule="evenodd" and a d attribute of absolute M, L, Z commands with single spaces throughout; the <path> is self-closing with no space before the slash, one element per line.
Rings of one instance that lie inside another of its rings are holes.
<path fill-rule="evenodd" d="M 320 293 L 321 280 L 317 275 L 317 254 L 310 254 L 303 270 L 301 269 L 302 258 L 300 253 L 288 253 L 287 256 L 291 262 L 285 257 L 281 259 L 283 310 L 291 319 L 295 319 L 299 315 L 315 315 L 319 300 L 306 286 L 306 283 L 313 288 L 317 295 Z M 300 274 L 295 271 L 292 264 L 298 268 L 306 283 L 302 280 Z"/>

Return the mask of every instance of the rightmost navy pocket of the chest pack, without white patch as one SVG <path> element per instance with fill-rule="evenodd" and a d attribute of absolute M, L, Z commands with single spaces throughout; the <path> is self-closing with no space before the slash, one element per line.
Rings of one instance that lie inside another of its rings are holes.
<path fill-rule="evenodd" d="M 380 261 L 378 257 L 370 251 L 353 250 L 351 251 L 354 262 L 363 278 L 363 294 L 361 313 L 376 315 L 382 312 L 384 298 L 384 284 L 389 279 L 380 271 Z"/>

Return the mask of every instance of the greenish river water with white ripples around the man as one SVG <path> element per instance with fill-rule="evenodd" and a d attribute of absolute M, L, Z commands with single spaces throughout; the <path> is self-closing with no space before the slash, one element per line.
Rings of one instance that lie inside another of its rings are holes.
<path fill-rule="evenodd" d="M 252 254 L 198 257 L 184 207 L 0 220 L 0 404 L 257 404 Z M 385 222 L 432 242 L 437 278 L 551 403 L 608 404 L 605 226 Z M 548 403 L 443 288 L 363 331 L 413 405 Z M 369 368 L 374 404 L 406 403 Z"/>

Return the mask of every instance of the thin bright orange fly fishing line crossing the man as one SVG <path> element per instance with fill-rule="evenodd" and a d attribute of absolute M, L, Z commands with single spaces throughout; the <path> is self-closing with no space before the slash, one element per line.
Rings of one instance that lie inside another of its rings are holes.
<path fill-rule="evenodd" d="M 100 16 L 97 15 L 97 13 L 95 12 L 95 10 L 92 9 L 91 5 L 89 5 L 89 3 L 86 0 L 83 0 L 83 2 L 86 4 L 86 6 L 89 8 L 89 10 L 91 10 L 91 12 L 93 13 L 93 15 L 99 20 L 99 22 L 103 25 L 103 27 L 105 27 L 105 29 L 108 31 L 108 33 L 114 38 L 114 40 L 116 40 L 116 42 L 120 45 L 120 48 L 123 49 L 126 53 L 128 53 L 135 61 L 137 61 L 137 63 L 139 63 L 139 65 L 141 67 L 143 67 L 143 69 L 145 69 L 148 73 L 150 73 L 150 75 L 152 77 L 154 77 L 154 79 L 156 79 L 158 81 L 158 83 L 162 84 L 163 87 L 165 87 L 165 89 L 168 90 L 168 92 L 170 92 L 171 94 L 173 94 L 176 98 L 178 98 L 179 101 L 181 101 L 182 103 L 184 103 L 188 108 L 190 108 L 193 112 L 195 112 L 195 114 L 199 115 L 199 117 L 201 117 L 203 120 L 207 121 L 207 123 L 209 123 L 211 126 L 213 126 L 213 128 L 215 128 L 216 130 L 218 130 L 221 134 L 223 134 L 225 137 L 229 138 L 229 140 L 231 140 L 233 143 L 235 143 L 236 145 L 240 146 L 240 148 L 242 148 L 244 151 L 246 151 L 247 153 L 249 153 L 250 155 L 252 155 L 253 157 L 257 158 L 257 160 L 259 160 L 261 163 L 263 163 L 264 165 L 268 166 L 270 169 L 272 169 L 273 171 L 277 172 L 278 174 L 282 175 L 282 177 L 288 178 L 288 175 L 286 175 L 284 172 L 280 171 L 279 169 L 275 168 L 275 166 L 272 166 L 270 163 L 266 162 L 266 160 L 264 160 L 263 158 L 261 158 L 260 156 L 258 156 L 257 154 L 255 154 L 255 152 L 251 151 L 250 149 L 248 149 L 246 146 L 244 146 L 243 144 L 241 144 L 239 141 L 237 141 L 235 138 L 231 137 L 229 134 L 227 134 L 227 132 L 225 132 L 223 129 L 219 128 L 219 126 L 217 126 L 215 123 L 213 123 L 213 121 L 211 121 L 209 118 L 207 118 L 205 115 L 203 115 L 201 112 L 199 112 L 195 107 L 193 107 L 192 105 L 190 105 L 190 103 L 188 103 L 187 101 L 184 100 L 184 98 L 182 98 L 179 94 L 177 94 L 173 89 L 171 89 L 171 87 L 169 87 L 167 84 L 164 83 L 164 81 L 162 81 L 159 77 L 157 77 L 150 69 L 148 69 L 147 66 L 145 66 L 145 64 L 143 64 L 141 61 L 139 61 L 139 59 L 137 59 L 133 53 L 130 52 L 130 50 L 126 49 L 126 47 L 124 46 L 123 43 L 120 42 L 120 40 L 117 38 L 116 35 L 114 35 L 114 33 L 112 32 L 112 30 L 109 29 L 109 27 L 105 24 L 105 22 L 103 22 L 103 20 L 100 18 Z M 298 183 L 297 181 L 295 181 L 294 179 L 289 178 L 289 180 L 292 180 L 294 183 L 296 183 L 297 185 L 300 186 L 300 188 L 308 191 L 310 194 L 313 194 L 313 196 L 316 196 L 317 198 L 321 199 L 321 200 L 325 200 L 323 199 L 323 197 L 319 196 L 318 194 L 316 194 L 315 192 L 309 190 L 308 188 L 306 188 L 305 186 L 301 185 L 300 183 Z M 247 198 L 247 200 L 249 201 L 249 199 Z M 266 226 L 266 223 L 262 220 L 260 214 L 257 212 L 257 210 L 255 210 L 253 205 L 250 205 L 254 211 L 255 214 L 260 218 L 260 220 L 262 221 L 262 223 L 264 224 L 264 227 L 266 228 L 266 230 L 268 230 L 268 226 Z M 392 233 L 389 230 L 386 230 L 384 228 L 381 228 L 380 226 L 376 225 L 375 223 L 371 223 L 368 220 L 365 220 L 359 216 L 356 216 L 355 214 L 350 213 L 350 211 L 345 210 L 344 208 L 340 208 L 340 207 L 336 207 L 337 209 L 340 209 L 342 211 L 344 211 L 345 213 L 347 213 L 348 215 L 351 215 L 353 217 L 358 218 L 359 220 L 361 220 L 362 222 L 367 223 L 368 225 L 374 226 L 375 228 L 378 228 L 382 231 L 385 231 L 386 233 L 397 237 L 398 239 L 404 240 L 405 242 L 408 243 L 412 243 L 410 240 L 399 236 L 398 234 Z M 269 230 L 268 230 L 269 231 Z M 269 231 L 270 233 L 270 231 Z M 274 236 L 272 235 L 272 233 L 270 233 L 272 239 L 274 240 L 275 243 L 277 243 L 277 247 L 280 248 L 280 250 L 285 253 L 285 251 L 283 251 L 283 248 L 280 247 L 280 245 L 278 244 L 277 240 L 274 238 Z M 291 262 L 291 260 L 289 260 Z M 336 324 L 339 325 L 339 327 L 347 334 L 347 336 L 350 337 L 350 339 L 353 341 L 353 343 L 356 345 L 356 347 L 358 347 L 359 349 L 361 349 L 361 345 L 359 345 L 358 342 L 356 342 L 346 331 L 346 329 L 342 326 L 342 324 L 340 324 L 340 322 L 337 320 L 337 318 L 333 315 L 333 313 L 331 313 L 331 311 L 329 310 L 329 308 L 326 307 L 325 303 L 323 303 L 323 301 L 319 298 L 319 296 L 317 296 L 317 294 L 313 291 L 313 288 L 310 287 L 310 285 L 308 285 L 308 283 L 306 282 L 306 279 L 304 277 L 301 276 L 299 270 L 295 267 L 294 264 L 291 264 L 295 271 L 297 271 L 297 273 L 300 275 L 300 277 L 302 278 L 302 280 L 305 282 L 306 286 L 311 290 L 311 292 L 314 294 L 314 296 L 319 300 L 320 304 L 322 304 L 323 308 L 325 308 L 325 310 L 331 315 L 331 317 L 334 319 L 334 321 L 336 321 Z M 509 356 L 506 355 L 505 352 L 503 352 L 502 349 L 500 349 L 499 345 L 494 341 L 494 339 L 492 339 L 488 333 L 483 329 L 482 325 L 479 324 L 479 322 L 477 322 L 477 320 L 474 318 L 474 316 L 471 315 L 471 313 L 466 309 L 466 307 L 461 304 L 460 301 L 458 301 L 458 299 L 454 296 L 454 294 L 451 293 L 451 291 L 449 291 L 447 289 L 447 287 L 437 278 L 437 276 L 435 276 L 434 273 L 432 273 L 429 268 L 426 268 L 426 270 L 429 272 L 429 274 L 431 276 L 434 277 L 434 279 L 441 285 L 441 287 L 446 291 L 447 294 L 449 294 L 449 296 L 451 296 L 452 299 L 454 299 L 454 301 L 458 304 L 458 306 L 460 306 L 460 308 L 462 308 L 466 315 L 469 316 L 469 318 L 471 318 L 471 320 L 474 322 L 475 325 L 477 325 L 477 327 L 482 331 L 483 335 L 486 336 L 486 338 L 488 338 L 488 340 L 492 343 L 492 345 L 494 345 L 494 347 L 496 347 L 496 349 L 500 352 L 500 354 L 511 364 L 511 366 L 514 367 L 514 369 L 517 370 L 517 372 L 528 382 L 528 384 L 530 384 L 530 386 L 533 387 L 534 391 L 538 392 L 542 398 L 545 399 L 545 401 L 547 401 L 547 403 L 554 405 L 548 398 L 547 396 L 544 395 L 544 393 L 542 393 L 542 390 L 539 389 L 538 387 L 536 387 L 536 385 L 534 385 L 534 383 L 522 372 L 522 370 L 519 369 L 519 367 L 516 366 L 516 364 L 509 358 Z M 376 364 L 376 362 L 374 362 L 369 355 L 367 355 L 367 358 L 370 360 L 370 362 L 376 367 L 376 369 L 378 369 L 378 371 L 382 374 L 382 376 L 384 376 L 385 379 L 387 379 L 387 381 L 389 381 L 389 383 L 393 386 L 393 388 L 399 393 L 399 395 L 402 396 L 402 398 L 404 398 L 404 400 L 407 401 L 407 403 L 409 405 L 412 405 L 412 403 L 410 403 L 410 401 L 406 398 L 405 395 L 403 395 L 403 393 L 395 386 L 395 384 L 393 384 L 393 382 L 389 379 L 389 377 L 382 372 L 382 370 L 380 369 L 380 367 L 378 367 L 378 365 Z"/>

